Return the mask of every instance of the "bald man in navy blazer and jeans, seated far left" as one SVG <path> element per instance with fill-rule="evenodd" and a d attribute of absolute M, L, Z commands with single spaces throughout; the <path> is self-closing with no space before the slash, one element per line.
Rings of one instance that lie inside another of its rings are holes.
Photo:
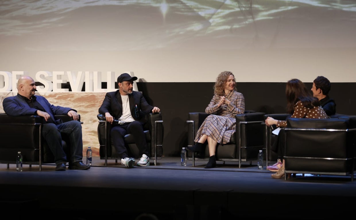
<path fill-rule="evenodd" d="M 22 76 L 17 81 L 17 95 L 6 97 L 2 102 L 4 111 L 10 116 L 38 115 L 46 120 L 42 127 L 42 136 L 47 141 L 54 155 L 56 171 L 65 171 L 67 155 L 62 146 L 62 135 L 70 141 L 70 158 L 68 169 L 88 170 L 89 165 L 83 163 L 82 124 L 78 121 L 78 113 L 72 108 L 54 106 L 43 96 L 36 96 L 35 81 L 30 76 Z M 54 115 L 68 114 L 73 117 L 69 122 L 61 123 Z"/>

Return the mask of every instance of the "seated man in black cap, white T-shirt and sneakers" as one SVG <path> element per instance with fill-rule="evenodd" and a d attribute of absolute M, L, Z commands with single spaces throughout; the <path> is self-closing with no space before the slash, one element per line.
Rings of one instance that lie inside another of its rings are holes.
<path fill-rule="evenodd" d="M 113 123 L 114 120 L 119 120 L 120 123 L 112 124 L 110 136 L 117 153 L 121 157 L 121 164 L 129 168 L 135 165 L 135 160 L 127 154 L 124 136 L 132 134 L 140 155 L 142 154 L 137 166 L 149 166 L 150 159 L 147 156 L 146 137 L 143 133 L 143 124 L 145 122 L 141 113 L 149 114 L 160 111 L 158 107 L 149 105 L 141 92 L 132 91 L 132 84 L 135 80 L 137 80 L 136 76 L 131 77 L 127 73 L 117 77 L 119 90 L 106 93 L 104 101 L 99 108 L 99 113 L 105 115 L 107 122 Z"/>

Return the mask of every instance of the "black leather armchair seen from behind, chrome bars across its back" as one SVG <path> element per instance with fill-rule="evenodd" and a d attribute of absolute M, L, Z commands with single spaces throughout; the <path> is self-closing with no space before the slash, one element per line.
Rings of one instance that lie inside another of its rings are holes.
<path fill-rule="evenodd" d="M 288 118 L 284 152 L 286 173 L 351 175 L 355 170 L 356 117 Z"/>

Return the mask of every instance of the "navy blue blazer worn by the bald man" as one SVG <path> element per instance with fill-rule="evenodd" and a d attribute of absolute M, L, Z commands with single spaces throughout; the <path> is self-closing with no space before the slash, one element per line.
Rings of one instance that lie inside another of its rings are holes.
<path fill-rule="evenodd" d="M 45 109 L 45 112 L 51 116 L 53 122 L 56 122 L 54 115 L 66 115 L 70 110 L 76 111 L 72 108 L 54 106 L 53 104 L 50 104 L 43 96 L 36 96 L 36 100 L 41 104 L 43 109 Z M 2 101 L 2 107 L 4 107 L 5 113 L 9 116 L 37 115 L 37 109 L 28 106 L 27 102 L 19 95 L 4 98 L 4 101 Z"/>

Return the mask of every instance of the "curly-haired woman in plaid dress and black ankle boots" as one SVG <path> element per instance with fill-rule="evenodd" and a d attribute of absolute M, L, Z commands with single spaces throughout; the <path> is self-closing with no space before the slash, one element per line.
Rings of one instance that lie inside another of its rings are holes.
<path fill-rule="evenodd" d="M 208 140 L 209 162 L 205 168 L 216 166 L 215 150 L 218 143 L 230 142 L 232 134 L 236 131 L 236 114 L 245 112 L 245 98 L 236 91 L 236 79 L 230 71 L 221 72 L 216 77 L 214 96 L 205 112 L 210 115 L 205 118 L 197 131 L 194 141 L 196 144 L 187 147 L 192 152 L 204 154 L 204 143 Z"/>

